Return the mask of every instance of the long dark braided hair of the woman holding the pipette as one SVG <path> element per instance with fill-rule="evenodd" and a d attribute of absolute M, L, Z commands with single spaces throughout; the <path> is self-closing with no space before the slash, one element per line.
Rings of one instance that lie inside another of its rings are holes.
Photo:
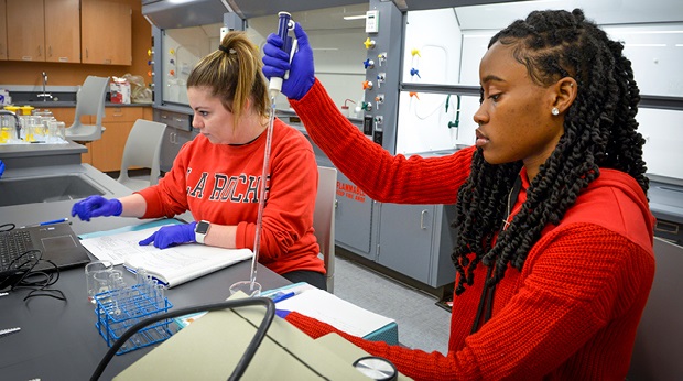
<path fill-rule="evenodd" d="M 521 270 L 543 228 L 560 222 L 578 193 L 599 176 L 599 167 L 629 174 L 646 194 L 649 186 L 642 160 L 644 139 L 636 121 L 640 92 L 621 43 L 609 40 L 579 9 L 531 12 L 491 37 L 489 47 L 496 42 L 511 45 L 514 58 L 540 86 L 573 77 L 578 92 L 566 112 L 557 146 L 495 246 L 522 163 L 488 164 L 481 150 L 476 151 L 471 174 L 458 192 L 453 224 L 457 229 L 452 254 L 458 273 L 457 295 L 474 283 L 480 262 L 495 265 L 489 286 L 503 277 L 508 265 Z"/>

